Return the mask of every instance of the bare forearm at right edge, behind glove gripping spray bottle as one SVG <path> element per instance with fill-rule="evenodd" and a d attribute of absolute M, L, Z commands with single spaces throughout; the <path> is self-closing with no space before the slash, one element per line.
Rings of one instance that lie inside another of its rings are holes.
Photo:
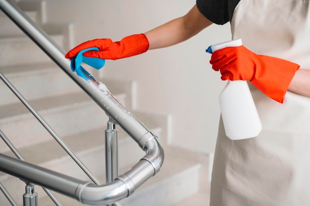
<path fill-rule="evenodd" d="M 299 95 L 310 97 L 310 70 L 297 70 L 288 90 Z"/>

